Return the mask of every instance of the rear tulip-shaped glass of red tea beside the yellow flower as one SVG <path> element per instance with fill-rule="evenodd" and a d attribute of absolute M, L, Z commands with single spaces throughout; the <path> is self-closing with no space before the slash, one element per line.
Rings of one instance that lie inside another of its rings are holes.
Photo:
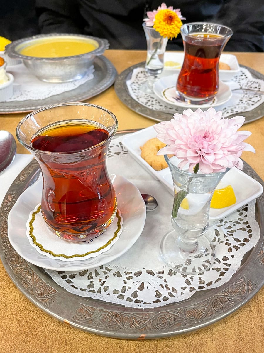
<path fill-rule="evenodd" d="M 219 88 L 219 58 L 232 36 L 230 28 L 213 23 L 186 23 L 181 27 L 184 60 L 176 90 L 182 101 L 203 104 Z"/>

